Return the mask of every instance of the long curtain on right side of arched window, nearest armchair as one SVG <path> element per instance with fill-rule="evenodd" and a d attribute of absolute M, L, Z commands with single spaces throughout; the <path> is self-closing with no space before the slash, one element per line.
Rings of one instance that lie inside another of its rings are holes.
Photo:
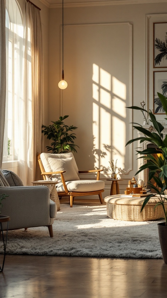
<path fill-rule="evenodd" d="M 19 173 L 23 183 L 38 176 L 37 153 L 41 152 L 43 111 L 42 31 L 40 11 L 26 2 L 23 18 L 23 103 L 21 109 Z"/>

